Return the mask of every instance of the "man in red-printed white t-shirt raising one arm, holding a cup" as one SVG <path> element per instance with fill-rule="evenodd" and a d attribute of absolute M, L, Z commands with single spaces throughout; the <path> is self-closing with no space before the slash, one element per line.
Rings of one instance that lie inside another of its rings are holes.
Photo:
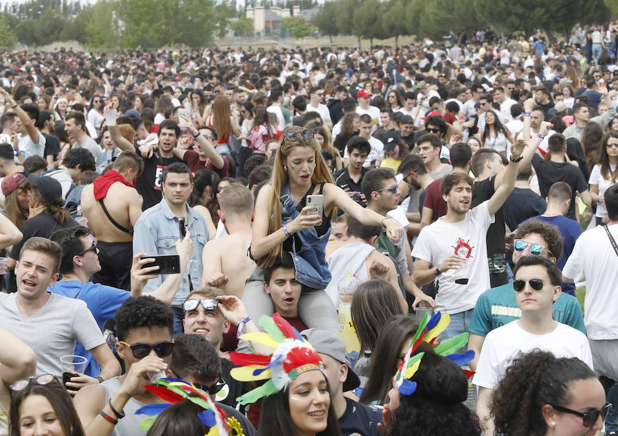
<path fill-rule="evenodd" d="M 435 308 L 450 314 L 443 340 L 468 330 L 477 298 L 491 287 L 487 230 L 515 186 L 524 148 L 523 141 L 514 144 L 501 185 L 474 209 L 470 209 L 474 181 L 468 174 L 454 172 L 442 178 L 440 194 L 446 202 L 446 215 L 422 229 L 412 256 L 416 257 L 413 279 L 417 286 L 438 279 Z"/>

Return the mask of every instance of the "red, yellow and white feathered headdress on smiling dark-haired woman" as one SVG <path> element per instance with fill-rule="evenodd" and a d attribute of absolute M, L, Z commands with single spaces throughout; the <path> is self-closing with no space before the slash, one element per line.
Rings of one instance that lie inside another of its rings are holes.
<path fill-rule="evenodd" d="M 246 341 L 258 342 L 275 349 L 272 356 L 231 352 L 230 358 L 236 365 L 231 376 L 241 382 L 268 380 L 264 385 L 238 397 L 240 404 L 249 404 L 267 395 L 282 391 L 304 371 L 322 370 L 322 359 L 299 332 L 278 313 L 273 317 L 260 318 L 264 332 L 247 333 L 240 336 Z"/>

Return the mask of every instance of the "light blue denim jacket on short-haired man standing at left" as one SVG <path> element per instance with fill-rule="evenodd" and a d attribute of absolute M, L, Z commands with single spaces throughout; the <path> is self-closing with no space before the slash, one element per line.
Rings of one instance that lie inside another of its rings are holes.
<path fill-rule="evenodd" d="M 189 219 L 187 231 L 191 232 L 193 254 L 189 259 L 187 271 L 181 286 L 174 295 L 172 306 L 181 307 L 189 295 L 189 275 L 193 288 L 197 289 L 202 280 L 202 251 L 208 241 L 208 228 L 203 216 L 187 205 Z M 165 198 L 161 203 L 142 212 L 133 229 L 133 253 L 148 253 L 149 255 L 172 255 L 176 253 L 176 241 L 180 238 L 180 230 L 176 216 L 168 206 Z M 144 293 L 156 290 L 167 278 L 159 275 L 156 279 L 148 280 L 144 286 Z"/>

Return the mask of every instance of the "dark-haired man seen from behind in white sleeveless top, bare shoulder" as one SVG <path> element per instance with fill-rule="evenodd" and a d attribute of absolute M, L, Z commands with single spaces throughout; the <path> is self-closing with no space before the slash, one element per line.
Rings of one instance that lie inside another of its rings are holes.
<path fill-rule="evenodd" d="M 333 300 L 335 307 L 339 306 L 337 285 L 347 271 L 352 271 L 361 282 L 369 279 L 382 279 L 393 285 L 403 310 L 408 312 L 408 303 L 404 298 L 397 277 L 395 263 L 390 257 L 383 255 L 374 248 L 382 227 L 367 226 L 350 218 L 347 223 L 347 241 L 332 241 L 326 245 L 326 262 L 332 274 L 332 280 L 326 287 L 326 293 Z"/>

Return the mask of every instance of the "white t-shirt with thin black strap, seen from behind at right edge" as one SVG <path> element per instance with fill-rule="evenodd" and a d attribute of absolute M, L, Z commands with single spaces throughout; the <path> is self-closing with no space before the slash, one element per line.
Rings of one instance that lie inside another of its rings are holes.
<path fill-rule="evenodd" d="M 618 240 L 618 225 L 608 229 Z M 576 283 L 586 280 L 584 324 L 588 338 L 618 339 L 618 256 L 603 226 L 586 230 L 577 238 L 562 275 Z"/>

